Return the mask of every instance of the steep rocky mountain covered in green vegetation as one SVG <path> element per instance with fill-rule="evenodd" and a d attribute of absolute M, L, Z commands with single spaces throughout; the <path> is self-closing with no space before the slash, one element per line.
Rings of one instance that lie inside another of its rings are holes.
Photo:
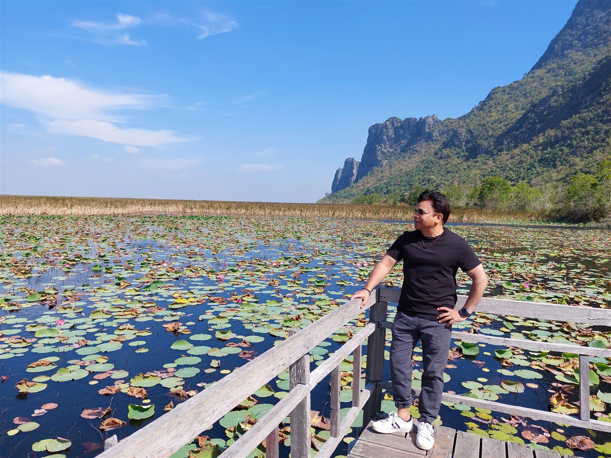
<path fill-rule="evenodd" d="M 519 81 L 495 87 L 459 118 L 391 117 L 369 128 L 319 202 L 403 194 L 413 186 L 566 183 L 611 158 L 611 1 L 580 0 Z"/>

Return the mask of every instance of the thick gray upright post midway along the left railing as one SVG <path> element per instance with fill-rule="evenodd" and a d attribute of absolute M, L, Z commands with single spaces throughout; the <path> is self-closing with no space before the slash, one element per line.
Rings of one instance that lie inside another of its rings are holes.
<path fill-rule="evenodd" d="M 291 364 L 288 373 L 290 390 L 297 385 L 308 385 L 310 383 L 310 354 L 306 353 Z M 291 456 L 309 458 L 312 446 L 311 422 L 310 394 L 308 393 L 291 412 Z"/>

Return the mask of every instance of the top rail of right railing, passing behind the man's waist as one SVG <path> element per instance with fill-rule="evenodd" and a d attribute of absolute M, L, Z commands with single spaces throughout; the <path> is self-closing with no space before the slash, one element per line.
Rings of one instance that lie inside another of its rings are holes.
<path fill-rule="evenodd" d="M 379 288 L 379 291 L 378 300 L 399 302 L 400 288 Z M 466 300 L 467 296 L 458 296 L 456 307 L 462 307 Z M 578 307 L 577 305 L 546 304 L 544 302 L 525 302 L 523 300 L 483 297 L 476 311 L 497 315 L 521 316 L 523 318 L 611 326 L 611 310 Z"/>

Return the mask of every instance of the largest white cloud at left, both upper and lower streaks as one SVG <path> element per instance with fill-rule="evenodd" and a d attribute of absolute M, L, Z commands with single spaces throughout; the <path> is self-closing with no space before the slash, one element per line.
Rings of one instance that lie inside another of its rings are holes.
<path fill-rule="evenodd" d="M 127 122 L 117 111 L 151 109 L 165 96 L 89 89 L 53 76 L 0 72 L 0 103 L 40 115 L 50 133 L 92 137 L 106 142 L 156 147 L 189 139 L 173 131 L 119 128 Z"/>

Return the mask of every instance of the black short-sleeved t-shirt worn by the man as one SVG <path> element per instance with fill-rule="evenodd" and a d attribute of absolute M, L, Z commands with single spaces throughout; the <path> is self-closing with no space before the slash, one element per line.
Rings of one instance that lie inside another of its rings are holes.
<path fill-rule="evenodd" d="M 448 228 L 439 237 L 427 238 L 419 230 L 405 231 L 387 255 L 403 260 L 403 287 L 398 310 L 436 319 L 437 307 L 456 305 L 456 272 L 481 264 L 469 243 Z"/>

